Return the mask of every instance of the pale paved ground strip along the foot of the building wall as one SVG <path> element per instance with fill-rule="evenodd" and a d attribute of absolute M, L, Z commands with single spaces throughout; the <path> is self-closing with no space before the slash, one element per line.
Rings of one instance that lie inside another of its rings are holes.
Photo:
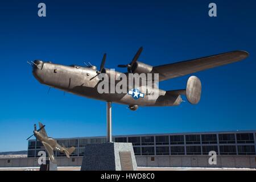
<path fill-rule="evenodd" d="M 39 167 L 0 168 L 0 171 L 39 171 Z M 80 167 L 58 167 L 58 171 L 80 171 Z M 138 171 L 256 171 L 249 168 L 138 167 Z"/>

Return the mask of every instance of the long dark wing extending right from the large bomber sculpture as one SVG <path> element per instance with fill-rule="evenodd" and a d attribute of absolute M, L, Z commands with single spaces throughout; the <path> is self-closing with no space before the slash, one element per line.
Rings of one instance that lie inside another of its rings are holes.
<path fill-rule="evenodd" d="M 152 73 L 159 73 L 159 81 L 163 81 L 203 71 L 205 69 L 241 61 L 247 56 L 249 56 L 249 53 L 246 51 L 226 52 L 218 55 L 201 57 L 199 59 L 159 65 L 157 67 L 153 67 Z"/>

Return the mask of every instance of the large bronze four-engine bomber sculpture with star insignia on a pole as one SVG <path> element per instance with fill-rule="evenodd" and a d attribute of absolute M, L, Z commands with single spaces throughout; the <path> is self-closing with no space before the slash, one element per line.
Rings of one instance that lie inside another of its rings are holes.
<path fill-rule="evenodd" d="M 178 63 L 152 66 L 138 61 L 141 52 L 142 47 L 139 48 L 130 64 L 118 65 L 118 67 L 127 68 L 128 72 L 125 73 L 126 75 L 129 75 L 129 73 L 159 74 L 159 82 L 241 61 L 249 55 L 246 51 L 232 51 Z M 197 104 L 200 101 L 201 81 L 196 76 L 189 77 L 187 87 L 181 90 L 165 91 L 154 86 L 140 85 L 139 88 L 128 86 L 127 93 L 99 93 L 97 86 L 102 81 L 99 78 L 101 73 L 105 73 L 109 77 L 112 74 L 114 74 L 114 77 L 121 75 L 120 72 L 112 73 L 110 69 L 105 68 L 105 60 L 106 54 L 101 61 L 100 70 L 98 71 L 94 65 L 87 67 L 67 66 L 35 60 L 32 62 L 32 73 L 40 83 L 50 87 L 96 100 L 128 105 L 131 110 L 137 110 L 139 106 L 180 105 L 182 102 L 181 95 L 185 95 L 191 104 Z M 154 80 L 152 81 L 155 82 Z M 115 81 L 114 86 L 117 84 L 118 81 Z M 150 99 L 150 94 L 154 94 L 156 92 L 155 89 L 158 89 L 158 97 Z"/>

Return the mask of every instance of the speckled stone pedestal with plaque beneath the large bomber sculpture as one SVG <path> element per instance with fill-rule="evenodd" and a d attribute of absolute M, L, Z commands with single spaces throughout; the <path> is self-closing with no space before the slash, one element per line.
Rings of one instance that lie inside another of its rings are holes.
<path fill-rule="evenodd" d="M 131 143 L 86 144 L 81 171 L 137 170 Z"/>

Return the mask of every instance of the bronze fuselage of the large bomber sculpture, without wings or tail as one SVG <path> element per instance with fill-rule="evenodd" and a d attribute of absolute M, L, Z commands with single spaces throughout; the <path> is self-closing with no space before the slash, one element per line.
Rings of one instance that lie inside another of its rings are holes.
<path fill-rule="evenodd" d="M 164 90 L 148 86 L 140 88 L 142 92 L 144 91 L 143 98 L 137 100 L 128 93 L 99 93 L 97 86 L 101 80 L 98 78 L 94 67 L 66 66 L 49 62 L 44 63 L 39 60 L 34 61 L 34 64 L 33 75 L 40 83 L 84 97 L 129 106 L 173 106 L 179 105 L 182 101 L 179 95 L 170 95 Z M 116 76 L 118 74 L 120 73 L 115 72 Z M 116 85 L 117 82 L 114 82 L 114 84 Z M 127 89 L 129 91 L 133 88 Z M 148 94 L 154 92 L 154 89 L 158 89 L 159 94 L 158 97 L 152 100 L 149 99 Z"/>

